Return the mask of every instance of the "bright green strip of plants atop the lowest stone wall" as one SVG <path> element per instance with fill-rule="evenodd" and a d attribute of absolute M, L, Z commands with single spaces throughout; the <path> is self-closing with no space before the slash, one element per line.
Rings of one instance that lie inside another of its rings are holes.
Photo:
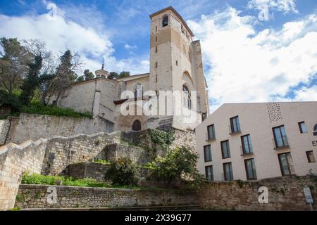
<path fill-rule="evenodd" d="M 22 178 L 22 184 L 42 184 L 42 185 L 56 185 L 56 181 L 62 181 L 63 186 L 82 186 L 82 187 L 99 187 L 108 188 L 110 184 L 99 182 L 95 179 L 73 179 L 72 177 L 64 176 L 44 176 L 40 174 L 25 173 Z"/>

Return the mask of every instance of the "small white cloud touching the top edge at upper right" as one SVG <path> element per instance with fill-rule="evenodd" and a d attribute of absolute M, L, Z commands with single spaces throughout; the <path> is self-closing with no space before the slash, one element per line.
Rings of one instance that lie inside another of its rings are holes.
<path fill-rule="evenodd" d="M 283 11 L 284 13 L 298 13 L 294 0 L 251 0 L 248 8 L 259 10 L 259 20 L 273 18 L 271 11 Z"/>

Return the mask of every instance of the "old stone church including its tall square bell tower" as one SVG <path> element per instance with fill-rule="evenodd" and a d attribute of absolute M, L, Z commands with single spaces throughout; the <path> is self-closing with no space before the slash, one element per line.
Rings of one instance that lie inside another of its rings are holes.
<path fill-rule="evenodd" d="M 96 71 L 96 78 L 77 82 L 67 89 L 58 100 L 58 106 L 92 112 L 113 123 L 114 130 L 130 131 L 148 128 L 193 130 L 209 115 L 209 98 L 204 77 L 201 45 L 193 40 L 194 34 L 182 16 L 172 6 L 149 15 L 151 18 L 150 68 L 149 73 L 119 79 L 108 79 L 108 72 Z M 128 69 L 128 68 L 127 68 Z M 123 96 L 123 91 L 132 91 L 134 96 Z M 152 94 L 146 94 L 151 91 Z M 147 104 L 156 108 L 154 97 L 161 91 L 180 91 L 182 98 L 166 103 L 172 108 L 164 115 L 123 115 L 121 110 L 128 104 L 134 110 Z M 191 94 L 195 92 L 195 94 Z M 181 105 L 178 106 L 177 103 Z M 138 104 L 137 104 L 138 103 Z M 124 105 L 124 106 L 123 106 Z M 189 117 L 184 122 L 184 113 L 175 113 L 178 108 Z"/>

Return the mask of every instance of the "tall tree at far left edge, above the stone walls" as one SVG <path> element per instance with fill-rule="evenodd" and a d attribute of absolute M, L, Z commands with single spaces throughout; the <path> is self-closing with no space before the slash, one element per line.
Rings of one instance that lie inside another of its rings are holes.
<path fill-rule="evenodd" d="M 4 49 L 4 52 L 0 52 L 0 85 L 1 89 L 8 91 L 8 95 L 12 96 L 27 73 L 27 64 L 30 63 L 31 56 L 18 39 L 2 37 L 0 42 Z"/>

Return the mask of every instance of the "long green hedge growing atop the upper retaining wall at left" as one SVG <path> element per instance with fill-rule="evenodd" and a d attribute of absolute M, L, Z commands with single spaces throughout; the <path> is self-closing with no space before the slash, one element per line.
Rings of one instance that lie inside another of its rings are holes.
<path fill-rule="evenodd" d="M 42 103 L 31 103 L 30 105 L 23 105 L 21 113 L 92 118 L 92 113 L 89 112 L 78 113 L 71 108 L 43 105 Z"/>

